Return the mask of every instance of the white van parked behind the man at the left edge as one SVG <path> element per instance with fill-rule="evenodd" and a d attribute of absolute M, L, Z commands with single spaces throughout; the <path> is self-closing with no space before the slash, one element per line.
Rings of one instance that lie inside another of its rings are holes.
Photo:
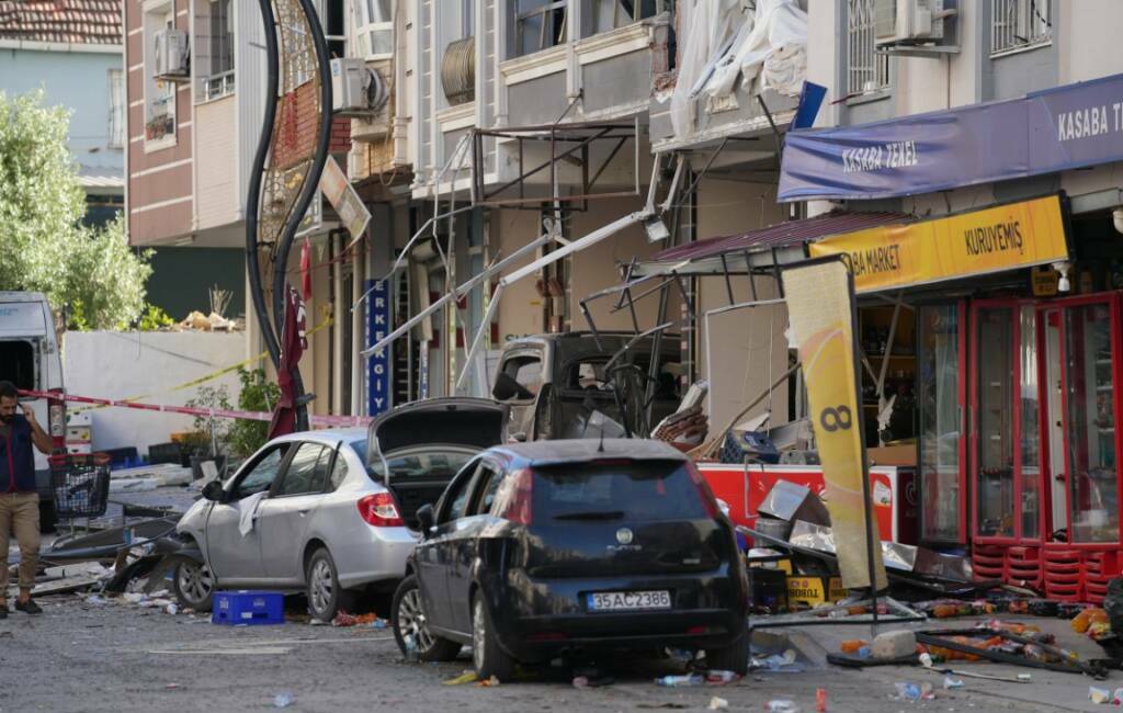
<path fill-rule="evenodd" d="M 0 381 L 28 391 L 63 391 L 63 363 L 55 337 L 55 318 L 47 298 L 40 292 L 0 292 Z M 57 448 L 63 447 L 66 411 L 62 401 L 20 399 L 35 409 L 35 415 L 49 432 Z M 48 402 L 49 401 L 49 402 Z M 35 451 L 39 495 L 52 500 L 47 458 Z"/>

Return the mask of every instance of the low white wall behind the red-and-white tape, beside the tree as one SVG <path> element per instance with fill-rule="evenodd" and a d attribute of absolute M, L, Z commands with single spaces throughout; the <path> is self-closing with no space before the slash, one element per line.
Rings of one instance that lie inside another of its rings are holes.
<path fill-rule="evenodd" d="M 70 331 L 63 340 L 63 378 L 73 394 L 118 400 L 152 394 L 144 402 L 183 405 L 198 390 L 168 389 L 237 364 L 244 358 L 244 345 L 239 332 Z M 225 385 L 230 402 L 237 403 L 237 374 L 207 385 Z M 167 442 L 172 433 L 191 430 L 194 420 L 135 409 L 91 413 L 94 450 L 135 446 L 140 454 L 153 444 Z"/>

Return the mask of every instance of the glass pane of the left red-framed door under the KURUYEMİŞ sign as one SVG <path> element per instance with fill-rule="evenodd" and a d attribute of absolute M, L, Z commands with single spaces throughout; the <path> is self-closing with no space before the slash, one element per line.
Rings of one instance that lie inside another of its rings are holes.
<path fill-rule="evenodd" d="M 987 537 L 1014 537 L 1014 312 L 978 311 L 978 522 Z"/>

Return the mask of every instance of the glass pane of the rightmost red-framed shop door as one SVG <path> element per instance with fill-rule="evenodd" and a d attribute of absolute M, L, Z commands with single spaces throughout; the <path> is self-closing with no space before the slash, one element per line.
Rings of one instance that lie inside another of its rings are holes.
<path fill-rule="evenodd" d="M 1065 310 L 1069 538 L 1117 542 L 1119 484 L 1107 304 Z"/>

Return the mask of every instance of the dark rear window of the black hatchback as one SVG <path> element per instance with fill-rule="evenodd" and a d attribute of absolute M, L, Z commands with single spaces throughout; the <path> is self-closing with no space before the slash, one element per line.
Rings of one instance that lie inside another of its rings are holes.
<path fill-rule="evenodd" d="M 707 519 L 702 492 L 677 460 L 567 464 L 535 468 L 535 519 Z"/>

